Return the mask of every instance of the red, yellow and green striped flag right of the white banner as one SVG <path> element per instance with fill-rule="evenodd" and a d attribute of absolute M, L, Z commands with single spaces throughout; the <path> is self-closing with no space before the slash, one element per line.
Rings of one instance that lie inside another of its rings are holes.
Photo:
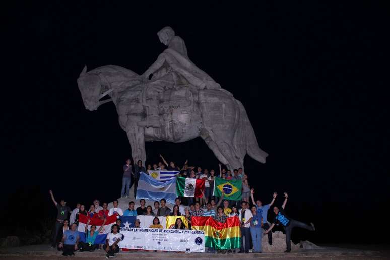
<path fill-rule="evenodd" d="M 205 231 L 205 246 L 218 250 L 241 247 L 240 220 L 237 216 L 227 218 L 226 223 L 212 217 L 192 217 L 192 229 Z"/>

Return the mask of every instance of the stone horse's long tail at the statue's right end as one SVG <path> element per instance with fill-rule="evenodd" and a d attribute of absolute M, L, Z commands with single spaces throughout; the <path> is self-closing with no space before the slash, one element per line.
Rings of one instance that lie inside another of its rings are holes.
<path fill-rule="evenodd" d="M 234 133 L 234 146 L 242 160 L 244 159 L 245 154 L 248 153 L 248 155 L 256 161 L 266 163 L 268 153 L 264 152 L 258 146 L 256 135 L 254 134 L 253 127 L 250 124 L 245 108 L 240 101 L 236 100 L 236 102 L 240 111 L 240 120 L 236 132 Z"/>

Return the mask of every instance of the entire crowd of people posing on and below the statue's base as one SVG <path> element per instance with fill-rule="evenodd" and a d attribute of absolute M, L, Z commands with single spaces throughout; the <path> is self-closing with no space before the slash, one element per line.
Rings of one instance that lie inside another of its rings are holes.
<path fill-rule="evenodd" d="M 215 171 L 197 167 L 197 171 L 194 171 L 195 167 L 188 166 L 188 160 L 185 161 L 183 167 L 180 169 L 176 164 L 171 161 L 169 164 L 160 155 L 162 162 L 157 164 L 148 164 L 147 168 L 142 165 L 142 161 L 138 161 L 136 165 L 132 164 L 132 160 L 128 159 L 123 166 L 122 177 L 122 190 L 121 197 L 129 197 L 129 188 L 131 186 L 131 180 L 134 179 L 134 192 L 135 197 L 137 193 L 138 179 L 142 172 L 148 174 L 148 170 L 174 170 L 178 171 L 178 175 L 186 178 L 204 178 L 205 189 L 202 191 L 201 198 L 185 198 L 178 197 L 175 200 L 175 204 L 172 209 L 166 206 L 166 200 L 161 199 L 155 201 L 153 207 L 151 205 L 146 206 L 144 199 L 140 200 L 140 207 L 135 209 L 135 203 L 129 202 L 128 209 L 123 210 L 118 207 L 118 201 L 113 201 L 113 207 L 108 209 L 108 204 L 103 202 L 100 206 L 99 200 L 94 200 L 93 204 L 89 206 L 89 210 L 85 205 L 80 203 L 76 204 L 76 208 L 71 210 L 66 206 L 66 202 L 61 200 L 57 203 L 53 197 L 53 193 L 50 190 L 50 196 L 57 208 L 57 218 L 53 228 L 53 240 L 52 248 L 57 247 L 63 251 L 63 255 L 73 255 L 75 250 L 80 251 L 93 251 L 95 249 L 104 249 L 107 252 L 107 257 L 113 257 L 116 252 L 119 251 L 118 243 L 121 240 L 120 222 L 118 218 L 117 223 L 112 226 L 111 233 L 108 234 L 106 242 L 103 246 L 95 245 L 95 239 L 100 230 L 96 230 L 96 226 L 92 225 L 88 230 L 89 222 L 85 228 L 85 240 L 86 242 L 80 242 L 80 238 L 77 235 L 77 226 L 79 225 L 80 214 L 87 216 L 88 219 L 97 217 L 105 221 L 108 216 L 139 216 L 149 215 L 155 216 L 150 228 L 163 228 L 160 225 L 158 216 L 184 216 L 188 223 L 188 228 L 191 229 L 191 217 L 193 216 L 209 216 L 214 218 L 217 222 L 225 223 L 229 217 L 238 217 L 241 222 L 241 248 L 238 253 L 248 253 L 250 251 L 259 253 L 262 248 L 262 236 L 268 235 L 268 243 L 272 245 L 272 232 L 271 230 L 275 225 L 280 225 L 286 232 L 286 251 L 291 251 L 291 231 L 293 227 L 301 227 L 308 230 L 315 230 L 314 225 L 304 224 L 302 222 L 293 220 L 285 214 L 285 206 L 288 200 L 288 194 L 284 193 L 284 202 L 281 207 L 274 206 L 274 217 L 271 222 L 268 221 L 267 215 L 269 208 L 274 204 L 277 197 L 277 193 L 273 194 L 271 202 L 267 205 L 263 205 L 261 200 L 254 199 L 254 189 L 249 187 L 248 176 L 242 171 L 242 168 L 234 169 L 233 174 L 230 170 L 224 169 L 219 164 L 219 177 L 223 179 L 234 179 L 242 181 L 242 197 L 240 201 L 225 200 L 224 191 L 220 198 L 213 196 L 212 188 L 214 186 Z M 251 199 L 252 206 L 250 206 Z M 184 201 L 184 203 L 182 203 Z M 70 215 L 69 219 L 68 216 Z M 139 227 L 140 220 L 136 219 L 134 227 Z M 102 225 L 103 226 L 103 225 Z M 176 219 L 175 225 L 168 228 L 186 229 L 183 221 L 180 218 Z M 206 248 L 207 252 L 215 252 L 215 248 Z M 236 252 L 235 249 L 231 250 Z M 224 253 L 226 250 L 221 250 Z"/>

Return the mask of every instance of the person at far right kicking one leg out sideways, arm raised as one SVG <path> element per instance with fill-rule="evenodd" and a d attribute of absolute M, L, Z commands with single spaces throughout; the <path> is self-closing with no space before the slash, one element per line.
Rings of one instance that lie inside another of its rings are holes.
<path fill-rule="evenodd" d="M 289 218 L 286 215 L 286 213 L 284 212 L 284 208 L 286 207 L 287 198 L 288 198 L 288 194 L 286 192 L 284 192 L 284 197 L 285 197 L 285 199 L 284 199 L 282 207 L 281 208 L 279 208 L 277 206 L 274 207 L 275 218 L 272 221 L 271 227 L 266 230 L 266 234 L 268 234 L 277 223 L 281 224 L 283 226 L 284 230 L 286 231 L 287 249 L 286 249 L 285 253 L 289 253 L 289 252 L 291 252 L 291 231 L 292 231 L 292 229 L 294 227 L 300 227 L 300 228 L 308 229 L 311 231 L 315 231 L 315 227 L 314 227 L 313 223 L 310 223 L 310 226 L 309 226 L 305 223 L 302 223 L 300 221 Z"/>

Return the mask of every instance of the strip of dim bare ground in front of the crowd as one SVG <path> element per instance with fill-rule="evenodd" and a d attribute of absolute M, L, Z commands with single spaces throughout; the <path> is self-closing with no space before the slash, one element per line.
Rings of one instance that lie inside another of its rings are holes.
<path fill-rule="evenodd" d="M 360 249 L 359 249 L 360 248 Z M 71 259 L 104 259 L 103 251 L 95 252 L 76 252 L 75 257 Z M 390 250 L 385 246 L 350 246 L 344 248 L 335 246 L 325 246 L 321 249 L 302 249 L 294 253 L 236 253 L 236 254 L 206 254 L 206 253 L 175 253 L 175 252 L 121 252 L 116 254 L 121 258 L 144 258 L 144 259 L 183 259 L 193 258 L 197 260 L 210 258 L 278 258 L 278 259 L 390 259 Z M 48 245 L 21 246 L 12 248 L 1 248 L 0 259 L 64 259 L 68 257 L 61 256 L 56 249 L 50 249 Z"/>

